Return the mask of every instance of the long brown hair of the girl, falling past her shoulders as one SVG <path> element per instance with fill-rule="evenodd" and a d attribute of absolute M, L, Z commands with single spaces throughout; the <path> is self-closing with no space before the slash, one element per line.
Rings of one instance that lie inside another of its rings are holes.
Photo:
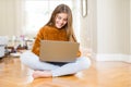
<path fill-rule="evenodd" d="M 46 25 L 55 26 L 55 24 L 56 24 L 55 18 L 58 13 L 67 13 L 68 14 L 68 22 L 62 28 L 64 28 L 67 30 L 67 37 L 69 38 L 70 41 L 76 41 L 75 35 L 73 33 L 73 27 L 72 27 L 72 23 L 73 23 L 72 12 L 71 12 L 71 9 L 67 4 L 59 4 L 53 10 L 51 17 Z"/>

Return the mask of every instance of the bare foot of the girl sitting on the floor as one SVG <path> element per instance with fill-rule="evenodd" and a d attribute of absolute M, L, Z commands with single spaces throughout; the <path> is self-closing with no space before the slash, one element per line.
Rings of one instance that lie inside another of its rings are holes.
<path fill-rule="evenodd" d="M 51 71 L 35 71 L 33 73 L 33 77 L 34 78 L 38 78 L 38 77 L 51 77 Z"/>

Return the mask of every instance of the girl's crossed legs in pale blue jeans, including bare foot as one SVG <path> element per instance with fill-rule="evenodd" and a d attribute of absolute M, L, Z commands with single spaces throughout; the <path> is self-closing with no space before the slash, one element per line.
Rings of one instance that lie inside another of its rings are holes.
<path fill-rule="evenodd" d="M 72 63 L 67 63 L 62 66 L 39 61 L 39 58 L 31 51 L 21 55 L 21 62 L 28 67 L 35 70 L 33 77 L 56 77 L 78 73 L 88 69 L 91 60 L 86 57 L 78 58 Z"/>

